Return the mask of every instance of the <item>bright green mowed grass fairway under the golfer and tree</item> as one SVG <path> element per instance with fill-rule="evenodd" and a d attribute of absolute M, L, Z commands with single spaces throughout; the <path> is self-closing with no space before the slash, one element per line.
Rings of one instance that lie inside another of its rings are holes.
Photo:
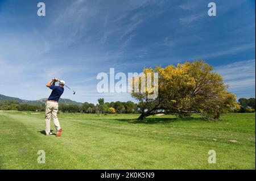
<path fill-rule="evenodd" d="M 1 111 L 0 169 L 255 169 L 255 113 L 214 123 L 166 115 L 136 123 L 138 116 L 61 113 L 63 134 L 55 137 L 44 135 L 43 112 Z"/>

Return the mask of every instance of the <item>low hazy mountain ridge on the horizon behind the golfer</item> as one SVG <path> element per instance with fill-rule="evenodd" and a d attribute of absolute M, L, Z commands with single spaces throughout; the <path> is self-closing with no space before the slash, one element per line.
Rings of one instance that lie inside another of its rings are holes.
<path fill-rule="evenodd" d="M 10 97 L 10 96 L 0 94 L 0 101 L 1 100 L 16 100 L 20 104 L 44 104 L 44 103 L 47 102 L 47 98 L 43 98 L 43 99 L 39 99 L 39 100 L 23 100 L 23 99 L 13 98 L 13 97 Z M 71 99 L 61 99 L 61 98 L 60 98 L 59 103 L 76 104 L 76 105 L 81 105 L 82 104 L 82 103 L 76 102 L 76 101 L 71 100 Z"/>

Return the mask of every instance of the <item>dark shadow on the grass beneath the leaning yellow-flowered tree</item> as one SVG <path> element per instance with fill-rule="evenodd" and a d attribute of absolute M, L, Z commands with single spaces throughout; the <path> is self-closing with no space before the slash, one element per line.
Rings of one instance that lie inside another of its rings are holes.
<path fill-rule="evenodd" d="M 177 121 L 205 121 L 201 117 L 189 117 L 189 118 L 177 118 L 177 117 L 147 117 L 144 120 L 137 119 L 115 119 L 127 123 L 142 123 L 142 124 L 167 124 L 174 123 Z"/>

